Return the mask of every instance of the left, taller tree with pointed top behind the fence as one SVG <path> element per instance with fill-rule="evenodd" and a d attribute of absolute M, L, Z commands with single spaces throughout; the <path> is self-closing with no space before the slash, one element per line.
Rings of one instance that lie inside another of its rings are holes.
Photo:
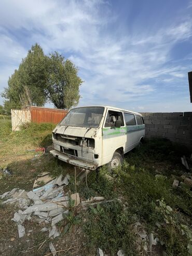
<path fill-rule="evenodd" d="M 8 88 L 2 93 L 6 107 L 21 109 L 26 105 L 43 106 L 46 102 L 45 87 L 48 80 L 47 56 L 35 44 L 22 59 L 19 69 L 9 77 Z"/>

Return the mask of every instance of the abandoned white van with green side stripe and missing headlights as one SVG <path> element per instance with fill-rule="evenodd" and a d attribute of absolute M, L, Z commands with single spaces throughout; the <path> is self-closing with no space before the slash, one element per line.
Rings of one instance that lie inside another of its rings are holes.
<path fill-rule="evenodd" d="M 72 165 L 95 170 L 122 164 L 124 154 L 145 136 L 141 114 L 111 106 L 77 107 L 52 132 L 50 153 Z"/>

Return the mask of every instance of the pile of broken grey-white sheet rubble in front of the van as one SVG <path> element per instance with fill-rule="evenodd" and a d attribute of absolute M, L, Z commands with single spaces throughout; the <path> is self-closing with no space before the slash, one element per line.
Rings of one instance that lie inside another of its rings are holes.
<path fill-rule="evenodd" d="M 8 198 L 2 204 L 17 203 L 21 208 L 18 212 L 15 212 L 12 218 L 12 221 L 15 221 L 18 225 L 19 238 L 25 235 L 24 221 L 31 220 L 32 218 L 39 223 L 51 223 L 52 228 L 42 228 L 42 232 L 49 231 L 49 237 L 55 238 L 60 236 L 56 224 L 63 220 L 63 213 L 68 214 L 66 207 L 69 197 L 64 196 L 63 185 L 68 185 L 69 180 L 70 176 L 68 174 L 64 179 L 62 179 L 61 174 L 58 178 L 51 180 L 44 186 L 34 188 L 33 191 L 26 192 L 19 190 L 19 188 L 13 188 L 13 190 L 0 195 L 2 199 Z M 77 204 L 79 204 L 79 195 L 73 194 L 73 197 L 78 199 Z"/>

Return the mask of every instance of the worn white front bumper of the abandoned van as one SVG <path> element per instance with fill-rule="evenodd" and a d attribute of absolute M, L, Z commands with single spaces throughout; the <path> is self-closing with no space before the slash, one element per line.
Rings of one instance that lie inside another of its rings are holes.
<path fill-rule="evenodd" d="M 58 159 L 66 162 L 68 164 L 75 165 L 80 168 L 85 168 L 85 169 L 89 169 L 89 170 L 96 170 L 98 168 L 98 165 L 94 165 L 91 163 L 85 163 L 82 160 L 79 160 L 73 156 L 68 156 L 67 154 L 61 153 L 57 150 L 51 150 L 50 153 L 54 157 L 57 157 Z"/>

